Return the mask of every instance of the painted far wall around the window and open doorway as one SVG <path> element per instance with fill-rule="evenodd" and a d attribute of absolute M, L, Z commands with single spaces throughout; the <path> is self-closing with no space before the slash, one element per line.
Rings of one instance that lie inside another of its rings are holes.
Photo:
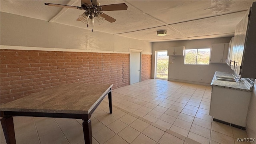
<path fill-rule="evenodd" d="M 152 49 L 152 71 L 151 78 L 154 78 L 155 51 L 167 50 L 168 47 L 185 46 L 185 49 L 211 48 L 212 44 L 228 43 L 231 38 L 209 38 L 200 40 L 182 40 L 174 42 L 154 42 Z M 227 53 L 227 49 L 224 50 Z M 174 64 L 171 64 L 174 62 Z M 215 71 L 234 72 L 227 64 L 209 65 L 184 65 L 184 56 L 175 56 L 175 60 L 169 57 L 168 80 L 190 82 L 198 84 L 210 84 Z"/>

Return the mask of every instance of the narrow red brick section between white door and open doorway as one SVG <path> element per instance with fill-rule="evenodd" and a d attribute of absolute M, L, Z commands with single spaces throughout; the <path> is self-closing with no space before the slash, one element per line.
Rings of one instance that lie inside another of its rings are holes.
<path fill-rule="evenodd" d="M 151 57 L 150 54 L 142 54 L 141 81 L 151 78 Z"/>

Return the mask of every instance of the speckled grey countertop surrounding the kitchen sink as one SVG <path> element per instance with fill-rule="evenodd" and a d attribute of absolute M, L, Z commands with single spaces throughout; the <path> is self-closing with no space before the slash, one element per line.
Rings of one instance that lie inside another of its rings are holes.
<path fill-rule="evenodd" d="M 235 73 L 230 73 L 230 72 L 215 72 L 212 79 L 211 86 L 218 86 L 222 88 L 252 92 L 253 86 L 250 83 L 246 82 L 244 78 L 241 78 L 240 82 L 228 82 L 223 80 L 217 80 L 218 76 L 234 78 L 234 76 L 232 76 L 231 74 L 236 75 Z"/>

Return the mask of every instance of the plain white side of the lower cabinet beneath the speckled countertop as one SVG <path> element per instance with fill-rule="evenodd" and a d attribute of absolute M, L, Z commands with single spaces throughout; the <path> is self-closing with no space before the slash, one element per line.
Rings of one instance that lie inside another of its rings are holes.
<path fill-rule="evenodd" d="M 218 120 L 246 127 L 251 92 L 212 86 L 210 115 Z"/>

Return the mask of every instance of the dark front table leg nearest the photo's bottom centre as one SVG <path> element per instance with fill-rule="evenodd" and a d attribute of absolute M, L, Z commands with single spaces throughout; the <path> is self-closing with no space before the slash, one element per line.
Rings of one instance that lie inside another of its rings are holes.
<path fill-rule="evenodd" d="M 83 130 L 85 144 L 92 144 L 92 122 L 90 119 L 88 121 L 84 120 Z"/>

